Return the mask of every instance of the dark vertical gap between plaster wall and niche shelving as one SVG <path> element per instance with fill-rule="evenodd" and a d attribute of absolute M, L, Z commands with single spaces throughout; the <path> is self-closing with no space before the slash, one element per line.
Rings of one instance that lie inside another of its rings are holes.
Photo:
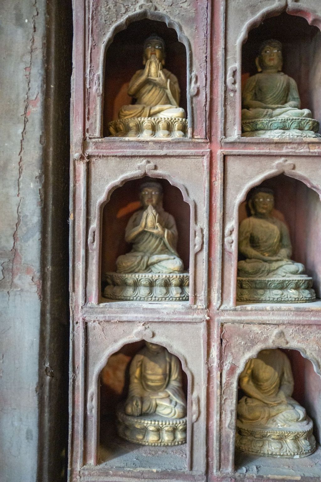
<path fill-rule="evenodd" d="M 39 346 L 39 482 L 66 481 L 72 2 L 47 0 Z"/>

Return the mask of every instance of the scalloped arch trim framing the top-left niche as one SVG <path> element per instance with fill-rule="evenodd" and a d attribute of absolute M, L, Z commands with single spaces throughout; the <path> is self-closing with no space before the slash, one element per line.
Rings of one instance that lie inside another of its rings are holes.
<path fill-rule="evenodd" d="M 104 91 L 104 74 L 106 67 L 106 53 L 108 47 L 114 40 L 115 35 L 122 30 L 125 30 L 129 24 L 137 22 L 139 20 L 144 20 L 145 18 L 149 20 L 154 20 L 156 22 L 163 22 L 168 28 L 173 28 L 176 33 L 179 42 L 181 42 L 186 49 L 186 95 L 187 95 L 187 124 L 188 132 L 193 130 L 192 126 L 192 101 L 191 97 L 193 95 L 193 73 L 192 73 L 192 50 L 191 44 L 187 36 L 184 34 L 181 25 L 178 22 L 172 20 L 166 13 L 158 12 L 155 10 L 150 10 L 147 8 L 142 8 L 136 12 L 128 14 L 123 20 L 119 20 L 114 27 L 108 32 L 102 43 L 101 56 L 99 61 L 99 72 L 96 74 L 95 86 L 99 86 L 99 89 L 95 89 L 96 100 L 97 100 L 97 133 L 100 137 L 103 136 L 103 91 Z M 192 88 L 191 88 L 192 87 Z"/>

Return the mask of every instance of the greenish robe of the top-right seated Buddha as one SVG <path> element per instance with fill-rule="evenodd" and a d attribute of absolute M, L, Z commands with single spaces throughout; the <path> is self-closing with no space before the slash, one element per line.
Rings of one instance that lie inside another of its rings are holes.
<path fill-rule="evenodd" d="M 284 107 L 250 107 L 251 101 Z M 250 77 L 242 93 L 242 107 L 242 120 L 312 117 L 310 110 L 300 109 L 300 97 L 295 80 L 283 72 L 262 72 Z"/>

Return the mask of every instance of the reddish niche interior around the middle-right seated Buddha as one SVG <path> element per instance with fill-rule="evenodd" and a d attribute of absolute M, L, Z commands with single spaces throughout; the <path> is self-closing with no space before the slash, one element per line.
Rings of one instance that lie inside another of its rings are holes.
<path fill-rule="evenodd" d="M 295 173 L 293 173 L 295 175 Z M 256 187 L 268 187 L 274 192 L 272 215 L 285 222 L 292 243 L 291 259 L 303 263 L 306 273 L 313 278 L 313 289 L 321 297 L 321 202 L 320 193 L 297 178 L 280 174 L 264 180 Z M 305 180 L 308 183 L 308 180 Z M 255 186 L 253 186 L 255 187 Z M 251 189 L 247 192 L 249 197 Z M 249 215 L 246 202 L 240 203 L 239 223 Z M 239 256 L 239 259 L 242 259 Z"/>

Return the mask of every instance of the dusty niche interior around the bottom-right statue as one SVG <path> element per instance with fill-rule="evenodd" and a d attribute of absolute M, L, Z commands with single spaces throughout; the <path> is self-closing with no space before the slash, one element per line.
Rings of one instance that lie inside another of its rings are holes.
<path fill-rule="evenodd" d="M 260 348 L 259 351 L 261 351 Z M 294 391 L 292 398 L 306 409 L 307 415 L 313 422 L 313 435 L 317 442 L 317 450 L 307 457 L 302 458 L 275 458 L 258 455 L 249 455 L 235 449 L 234 467 L 235 472 L 251 472 L 253 466 L 257 466 L 256 475 L 286 476 L 308 475 L 318 477 L 321 469 L 321 375 L 317 373 L 313 361 L 309 360 L 298 349 L 280 348 L 288 357 L 294 377 Z M 256 356 L 259 352 L 257 352 Z M 252 358 L 250 357 L 248 360 Z M 240 367 L 241 375 L 244 366 Z M 239 379 L 239 376 L 238 376 Z M 243 390 L 238 385 L 237 402 L 244 396 Z M 236 418 L 235 411 L 235 418 Z"/>

